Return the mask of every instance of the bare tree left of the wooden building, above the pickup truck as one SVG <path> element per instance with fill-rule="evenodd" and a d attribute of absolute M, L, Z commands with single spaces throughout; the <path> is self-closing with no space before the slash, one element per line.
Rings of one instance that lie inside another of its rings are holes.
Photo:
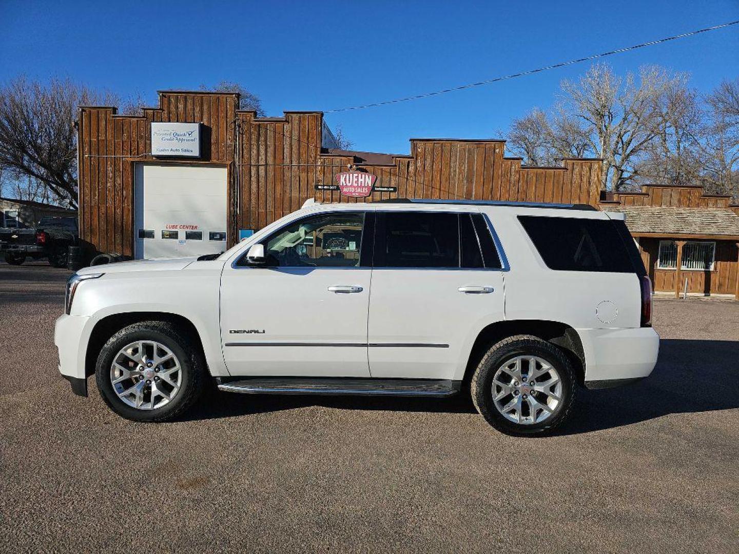
<path fill-rule="evenodd" d="M 116 98 L 72 81 L 47 85 L 19 77 L 0 87 L 0 165 L 23 185 L 42 183 L 53 202 L 77 207 L 78 106 L 115 105 Z"/>

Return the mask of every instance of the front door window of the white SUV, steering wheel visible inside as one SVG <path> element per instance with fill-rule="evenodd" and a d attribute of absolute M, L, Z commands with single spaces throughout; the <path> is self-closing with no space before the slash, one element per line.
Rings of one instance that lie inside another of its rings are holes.
<path fill-rule="evenodd" d="M 290 223 L 262 244 L 272 267 L 358 267 L 364 213 L 324 213 Z"/>

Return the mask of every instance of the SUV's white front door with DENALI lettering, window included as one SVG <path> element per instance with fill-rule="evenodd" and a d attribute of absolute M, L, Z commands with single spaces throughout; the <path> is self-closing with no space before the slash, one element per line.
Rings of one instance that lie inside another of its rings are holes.
<path fill-rule="evenodd" d="M 363 211 L 306 216 L 262 241 L 265 266 L 244 256 L 225 267 L 221 339 L 231 375 L 369 377 L 372 269 L 361 256 L 372 241 L 363 233 Z"/>

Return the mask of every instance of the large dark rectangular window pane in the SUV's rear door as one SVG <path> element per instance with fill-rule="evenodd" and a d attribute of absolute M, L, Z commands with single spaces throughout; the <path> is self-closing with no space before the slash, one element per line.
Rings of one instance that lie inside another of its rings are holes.
<path fill-rule="evenodd" d="M 377 215 L 375 267 L 459 267 L 456 213 Z"/>

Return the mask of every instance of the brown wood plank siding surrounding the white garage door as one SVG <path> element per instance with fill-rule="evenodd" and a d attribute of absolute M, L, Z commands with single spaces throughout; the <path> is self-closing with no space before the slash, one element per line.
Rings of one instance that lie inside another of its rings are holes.
<path fill-rule="evenodd" d="M 116 114 L 110 107 L 78 110 L 78 167 L 81 239 L 100 252 L 133 255 L 134 163 L 213 163 L 234 161 L 238 95 L 208 92 L 163 92 L 159 108 L 141 116 Z M 152 121 L 202 121 L 205 139 L 197 161 L 151 157 Z M 231 125 L 230 125 L 231 124 Z M 229 198 L 234 198 L 229 171 Z M 229 227 L 236 229 L 236 205 L 230 202 Z"/>

